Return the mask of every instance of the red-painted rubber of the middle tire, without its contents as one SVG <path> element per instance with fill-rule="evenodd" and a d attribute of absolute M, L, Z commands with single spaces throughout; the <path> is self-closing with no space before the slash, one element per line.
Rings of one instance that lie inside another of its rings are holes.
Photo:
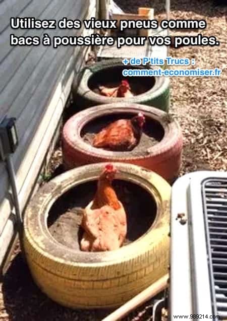
<path fill-rule="evenodd" d="M 81 132 L 95 118 L 109 114 L 136 114 L 142 111 L 146 119 L 158 123 L 163 131 L 162 139 L 146 151 L 146 155 L 132 152 L 111 152 L 94 148 L 84 142 Z M 157 108 L 145 105 L 113 103 L 83 110 L 71 117 L 63 129 L 63 159 L 67 169 L 99 162 L 124 162 L 150 169 L 172 182 L 181 167 L 183 138 L 179 124 Z"/>

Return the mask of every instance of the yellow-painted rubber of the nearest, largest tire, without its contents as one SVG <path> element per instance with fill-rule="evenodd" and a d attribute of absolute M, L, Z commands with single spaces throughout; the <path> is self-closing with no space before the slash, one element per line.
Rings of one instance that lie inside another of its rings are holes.
<path fill-rule="evenodd" d="M 26 210 L 24 250 L 31 274 L 40 289 L 61 305 L 119 306 L 167 273 L 171 187 L 144 168 L 122 163 L 115 166 L 118 179 L 144 187 L 157 206 L 152 226 L 129 245 L 106 252 L 75 251 L 58 243 L 47 228 L 48 212 L 56 199 L 78 184 L 97 179 L 103 163 L 79 167 L 54 178 L 40 189 Z"/>

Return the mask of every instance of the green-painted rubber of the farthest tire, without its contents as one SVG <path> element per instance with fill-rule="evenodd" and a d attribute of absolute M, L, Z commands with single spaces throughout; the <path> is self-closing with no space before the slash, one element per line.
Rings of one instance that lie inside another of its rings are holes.
<path fill-rule="evenodd" d="M 103 60 L 101 62 L 95 63 L 95 65 L 93 66 L 86 67 L 80 78 L 79 86 L 77 86 L 76 83 L 74 83 L 73 85 L 73 96 L 77 109 L 83 110 L 87 107 L 92 107 L 100 104 L 124 102 L 133 104 L 145 104 L 148 106 L 156 107 L 163 111 L 168 111 L 170 96 L 168 77 L 153 77 L 153 86 L 149 90 L 130 98 L 105 97 L 91 90 L 90 83 L 92 79 L 95 79 L 95 77 L 97 79 L 100 79 L 100 77 L 106 74 L 108 79 L 112 80 L 116 77 L 116 70 L 121 71 L 127 68 L 132 69 L 133 67 L 130 65 L 124 66 L 122 63 L 122 59 Z M 136 66 L 134 67 L 134 69 L 147 69 L 147 66 Z M 144 78 L 149 79 L 149 77 L 140 78 L 140 83 L 141 81 L 144 81 Z"/>

